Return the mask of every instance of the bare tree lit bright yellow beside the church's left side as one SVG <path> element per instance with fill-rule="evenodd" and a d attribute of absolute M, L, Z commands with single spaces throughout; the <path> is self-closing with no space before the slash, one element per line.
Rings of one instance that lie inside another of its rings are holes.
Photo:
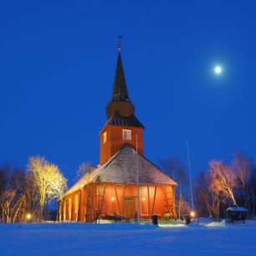
<path fill-rule="evenodd" d="M 59 171 L 58 166 L 40 156 L 29 158 L 28 173 L 31 173 L 33 181 L 38 187 L 41 220 L 46 198 L 51 200 L 62 197 L 67 188 L 67 180 Z"/>

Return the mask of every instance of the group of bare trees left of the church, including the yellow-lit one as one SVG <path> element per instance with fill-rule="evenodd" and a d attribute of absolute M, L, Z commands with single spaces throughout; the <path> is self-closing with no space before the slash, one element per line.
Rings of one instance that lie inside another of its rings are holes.
<path fill-rule="evenodd" d="M 43 157 L 30 157 L 23 170 L 6 162 L 0 166 L 0 222 L 42 221 L 45 204 L 59 198 L 66 189 L 66 179 L 58 166 Z M 31 219 L 30 219 L 31 218 Z"/>

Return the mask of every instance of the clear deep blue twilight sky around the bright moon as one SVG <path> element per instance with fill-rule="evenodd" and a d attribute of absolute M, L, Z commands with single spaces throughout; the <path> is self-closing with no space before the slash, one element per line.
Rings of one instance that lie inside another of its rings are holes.
<path fill-rule="evenodd" d="M 256 159 L 255 10 L 254 0 L 1 1 L 0 163 L 44 156 L 69 185 L 79 163 L 99 163 L 118 34 L 146 157 L 187 163 L 188 140 L 194 176 L 234 151 Z"/>

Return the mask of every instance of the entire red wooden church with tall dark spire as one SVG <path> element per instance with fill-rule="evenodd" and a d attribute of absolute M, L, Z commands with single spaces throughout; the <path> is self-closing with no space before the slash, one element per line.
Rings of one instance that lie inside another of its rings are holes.
<path fill-rule="evenodd" d="M 100 131 L 100 164 L 59 200 L 59 221 L 176 218 L 177 182 L 144 156 L 144 126 L 128 94 L 120 47 L 106 119 Z"/>

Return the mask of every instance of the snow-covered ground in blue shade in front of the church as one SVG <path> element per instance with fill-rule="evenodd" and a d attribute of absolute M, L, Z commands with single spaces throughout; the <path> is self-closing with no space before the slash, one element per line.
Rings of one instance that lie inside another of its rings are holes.
<path fill-rule="evenodd" d="M 256 255 L 256 222 L 0 224 L 0 255 Z"/>

